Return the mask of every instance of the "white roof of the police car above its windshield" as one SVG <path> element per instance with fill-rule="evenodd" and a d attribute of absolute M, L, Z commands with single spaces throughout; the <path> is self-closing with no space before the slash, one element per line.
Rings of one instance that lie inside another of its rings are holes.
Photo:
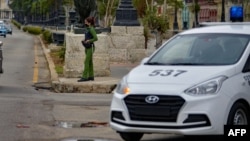
<path fill-rule="evenodd" d="M 250 23 L 218 23 L 204 27 L 197 27 L 181 32 L 180 34 L 198 34 L 198 33 L 231 33 L 250 35 Z"/>

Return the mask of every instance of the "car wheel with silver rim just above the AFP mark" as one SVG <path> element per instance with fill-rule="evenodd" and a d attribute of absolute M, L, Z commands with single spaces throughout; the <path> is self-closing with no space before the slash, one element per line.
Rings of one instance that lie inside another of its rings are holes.
<path fill-rule="evenodd" d="M 227 125 L 248 125 L 250 124 L 250 112 L 243 103 L 235 103 L 228 115 Z"/>

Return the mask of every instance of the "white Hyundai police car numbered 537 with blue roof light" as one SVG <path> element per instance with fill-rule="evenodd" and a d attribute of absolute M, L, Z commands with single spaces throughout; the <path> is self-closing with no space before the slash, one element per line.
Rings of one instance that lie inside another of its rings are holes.
<path fill-rule="evenodd" d="M 250 124 L 250 25 L 190 29 L 132 69 L 114 90 L 110 126 L 144 133 L 222 135 Z"/>

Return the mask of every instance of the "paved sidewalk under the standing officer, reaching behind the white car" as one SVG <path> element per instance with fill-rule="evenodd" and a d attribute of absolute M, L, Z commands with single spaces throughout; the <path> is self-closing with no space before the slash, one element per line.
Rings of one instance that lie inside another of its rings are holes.
<path fill-rule="evenodd" d="M 77 82 L 79 78 L 61 78 L 55 71 L 55 65 L 50 57 L 50 50 L 45 48 L 42 40 L 39 38 L 44 55 L 48 62 L 52 89 L 57 93 L 112 93 L 116 84 L 137 64 L 111 64 L 110 77 L 95 77 L 94 81 Z"/>

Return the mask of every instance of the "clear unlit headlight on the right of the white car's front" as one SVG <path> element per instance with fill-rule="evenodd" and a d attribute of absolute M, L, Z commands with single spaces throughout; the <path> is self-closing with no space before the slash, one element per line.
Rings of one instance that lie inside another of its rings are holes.
<path fill-rule="evenodd" d="M 201 84 L 195 85 L 184 92 L 189 95 L 206 95 L 206 94 L 216 94 L 222 83 L 227 79 L 226 76 L 219 76 Z"/>

